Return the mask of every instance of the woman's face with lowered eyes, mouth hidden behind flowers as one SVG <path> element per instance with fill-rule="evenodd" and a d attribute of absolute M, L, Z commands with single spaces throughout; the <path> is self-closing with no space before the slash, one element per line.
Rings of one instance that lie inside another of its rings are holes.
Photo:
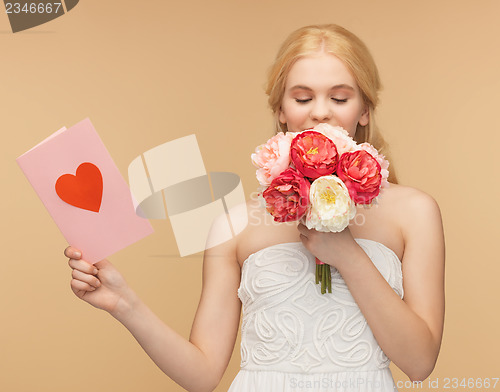
<path fill-rule="evenodd" d="M 368 107 L 345 65 L 336 56 L 319 52 L 303 57 L 290 69 L 279 121 L 299 132 L 319 123 L 344 128 L 351 137 L 358 123 L 368 124 Z"/>

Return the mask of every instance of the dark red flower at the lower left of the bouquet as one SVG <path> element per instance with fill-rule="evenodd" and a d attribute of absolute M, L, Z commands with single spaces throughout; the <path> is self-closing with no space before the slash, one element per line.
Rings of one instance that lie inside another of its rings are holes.
<path fill-rule="evenodd" d="M 277 176 L 262 193 L 266 209 L 275 222 L 299 220 L 309 204 L 309 181 L 295 169 L 288 168 Z"/>

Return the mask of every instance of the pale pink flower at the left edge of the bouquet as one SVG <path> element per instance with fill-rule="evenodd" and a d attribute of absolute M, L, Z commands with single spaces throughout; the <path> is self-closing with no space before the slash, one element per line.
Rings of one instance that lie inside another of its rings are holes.
<path fill-rule="evenodd" d="M 290 145 L 294 135 L 279 132 L 252 154 L 252 163 L 258 167 L 257 180 L 262 186 L 269 186 L 272 180 L 290 164 Z"/>

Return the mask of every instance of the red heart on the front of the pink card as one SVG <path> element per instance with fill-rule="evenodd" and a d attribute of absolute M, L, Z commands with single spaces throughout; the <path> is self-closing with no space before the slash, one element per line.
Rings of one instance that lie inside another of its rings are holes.
<path fill-rule="evenodd" d="M 102 200 L 101 171 L 96 165 L 84 162 L 76 169 L 76 175 L 63 174 L 57 179 L 56 193 L 72 206 L 99 212 Z"/>

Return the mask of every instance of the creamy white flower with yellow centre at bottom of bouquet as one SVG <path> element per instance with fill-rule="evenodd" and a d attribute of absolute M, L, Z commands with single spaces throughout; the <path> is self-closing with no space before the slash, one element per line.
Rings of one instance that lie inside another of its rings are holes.
<path fill-rule="evenodd" d="M 316 179 L 309 191 L 310 207 L 305 225 L 323 232 L 344 230 L 356 215 L 356 206 L 347 187 L 337 176 Z"/>

